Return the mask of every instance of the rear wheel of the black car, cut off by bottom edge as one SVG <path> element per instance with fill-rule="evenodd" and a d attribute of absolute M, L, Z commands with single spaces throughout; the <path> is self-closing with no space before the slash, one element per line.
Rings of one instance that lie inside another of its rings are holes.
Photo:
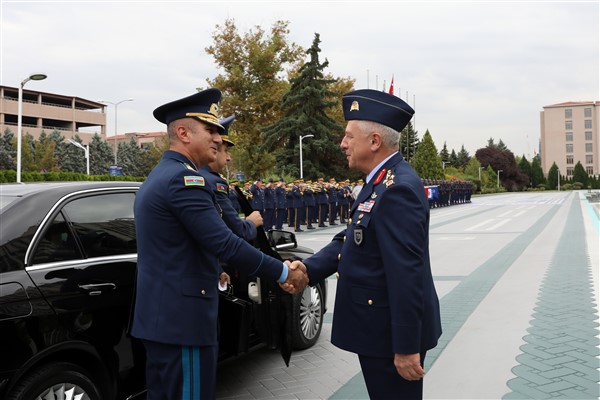
<path fill-rule="evenodd" d="M 45 365 L 28 374 L 11 391 L 8 400 L 101 400 L 86 371 L 70 363 Z"/>

